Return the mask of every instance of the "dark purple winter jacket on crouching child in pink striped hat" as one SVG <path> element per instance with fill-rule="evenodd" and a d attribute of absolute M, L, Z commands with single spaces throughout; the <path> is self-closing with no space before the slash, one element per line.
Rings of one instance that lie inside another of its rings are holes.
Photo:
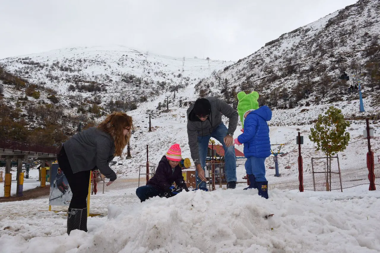
<path fill-rule="evenodd" d="M 164 155 L 158 163 L 154 176 L 149 179 L 147 185 L 152 185 L 154 188 L 161 191 L 171 191 L 169 187 L 176 182 L 177 188 L 182 188 L 188 191 L 184 177 L 182 176 L 182 169 L 177 165 L 174 172 L 169 164 L 169 161 Z"/>

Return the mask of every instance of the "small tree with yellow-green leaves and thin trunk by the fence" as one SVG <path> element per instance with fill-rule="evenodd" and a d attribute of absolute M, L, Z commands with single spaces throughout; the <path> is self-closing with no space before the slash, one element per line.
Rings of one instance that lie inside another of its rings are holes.
<path fill-rule="evenodd" d="M 326 178 L 327 190 L 331 185 L 331 157 L 345 150 L 350 141 L 350 133 L 346 131 L 350 122 L 344 119 L 341 112 L 340 109 L 330 106 L 325 115 L 318 115 L 314 128 L 310 128 L 310 141 L 317 144 L 317 150 L 321 150 L 326 155 L 329 174 L 329 180 Z"/>

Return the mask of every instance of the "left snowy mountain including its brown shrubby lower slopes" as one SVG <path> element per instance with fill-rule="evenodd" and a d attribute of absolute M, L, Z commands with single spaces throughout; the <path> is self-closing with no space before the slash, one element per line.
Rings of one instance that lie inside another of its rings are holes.
<path fill-rule="evenodd" d="M 234 63 L 195 58 L 116 46 L 76 47 L 2 59 L 0 121 L 6 119 L 0 125 L 19 129 L 16 133 L 5 131 L 5 136 L 20 140 L 29 136 L 29 141 L 52 145 L 109 112 L 130 111 L 144 101 L 162 110 L 167 101 L 181 107 L 182 100 L 176 96 L 179 90 Z M 162 94 L 168 95 L 168 100 L 156 101 Z M 193 95 L 188 93 L 182 99 Z M 39 137 L 45 134 L 54 135 L 51 143 L 43 143 Z"/>

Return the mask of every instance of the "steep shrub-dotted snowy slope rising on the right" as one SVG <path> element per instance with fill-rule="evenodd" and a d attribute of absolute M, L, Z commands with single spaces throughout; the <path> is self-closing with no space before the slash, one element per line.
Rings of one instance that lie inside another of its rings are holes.
<path fill-rule="evenodd" d="M 236 93 L 255 90 L 261 104 L 286 109 L 275 115 L 272 125 L 310 124 L 330 105 L 350 119 L 366 115 L 379 119 L 379 17 L 380 1 L 359 0 L 266 43 L 196 85 L 196 91 L 236 103 Z M 342 71 L 349 75 L 348 82 L 338 79 Z M 361 114 L 358 94 L 347 94 L 350 85 L 356 84 L 354 74 L 361 79 L 366 109 Z M 306 90 L 309 96 L 304 95 Z"/>

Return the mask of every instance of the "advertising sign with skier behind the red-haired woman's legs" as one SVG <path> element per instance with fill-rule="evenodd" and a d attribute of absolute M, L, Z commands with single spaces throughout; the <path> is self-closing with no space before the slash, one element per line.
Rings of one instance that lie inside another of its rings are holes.
<path fill-rule="evenodd" d="M 50 168 L 50 198 L 49 206 L 68 206 L 71 197 L 70 186 L 65 174 L 59 168 L 58 163 L 52 163 Z"/>

